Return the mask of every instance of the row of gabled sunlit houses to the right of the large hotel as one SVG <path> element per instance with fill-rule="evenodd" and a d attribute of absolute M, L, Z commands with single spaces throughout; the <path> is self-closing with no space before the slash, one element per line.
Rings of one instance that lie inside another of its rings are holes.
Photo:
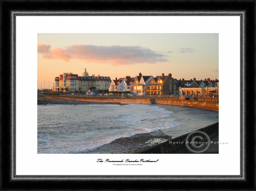
<path fill-rule="evenodd" d="M 135 95 L 202 95 L 218 93 L 219 81 L 174 79 L 172 74 L 161 76 L 139 76 L 115 79 L 111 81 L 109 91 L 130 92 Z"/>

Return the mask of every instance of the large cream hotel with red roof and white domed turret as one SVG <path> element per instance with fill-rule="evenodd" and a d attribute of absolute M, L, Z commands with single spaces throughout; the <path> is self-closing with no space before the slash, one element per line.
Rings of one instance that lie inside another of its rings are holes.
<path fill-rule="evenodd" d="M 108 90 L 111 83 L 109 76 L 89 76 L 86 68 L 82 76 L 73 73 L 63 73 L 55 77 L 53 91 L 87 91 L 90 88 Z"/>

